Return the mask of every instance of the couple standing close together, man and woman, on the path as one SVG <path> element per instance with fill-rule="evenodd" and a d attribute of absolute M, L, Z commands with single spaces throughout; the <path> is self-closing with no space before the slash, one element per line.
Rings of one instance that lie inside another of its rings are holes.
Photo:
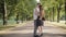
<path fill-rule="evenodd" d="M 37 35 L 37 29 L 38 29 L 38 36 L 43 35 L 43 21 L 45 21 L 44 16 L 44 10 L 41 5 L 41 3 L 37 3 L 36 8 L 34 9 L 34 37 Z"/>

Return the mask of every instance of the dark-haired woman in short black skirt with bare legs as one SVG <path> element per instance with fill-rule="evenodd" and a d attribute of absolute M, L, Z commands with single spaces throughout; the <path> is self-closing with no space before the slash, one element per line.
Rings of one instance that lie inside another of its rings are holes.
<path fill-rule="evenodd" d="M 45 20 L 45 18 L 43 18 L 44 17 L 44 10 L 43 10 L 43 8 L 42 8 L 42 5 L 40 5 L 38 7 L 40 8 L 40 15 L 37 16 L 37 26 L 38 26 L 38 33 L 40 33 L 40 36 L 42 36 L 43 35 L 43 20 Z"/>

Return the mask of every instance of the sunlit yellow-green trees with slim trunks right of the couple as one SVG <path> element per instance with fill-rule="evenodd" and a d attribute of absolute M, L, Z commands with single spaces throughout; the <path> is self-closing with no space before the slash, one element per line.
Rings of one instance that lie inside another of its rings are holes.
<path fill-rule="evenodd" d="M 50 16 L 50 18 L 46 18 L 51 21 L 57 21 L 59 23 L 61 17 L 65 15 L 64 2 L 65 0 L 41 0 L 41 3 L 44 7 L 44 10 L 46 11 L 46 16 Z"/>

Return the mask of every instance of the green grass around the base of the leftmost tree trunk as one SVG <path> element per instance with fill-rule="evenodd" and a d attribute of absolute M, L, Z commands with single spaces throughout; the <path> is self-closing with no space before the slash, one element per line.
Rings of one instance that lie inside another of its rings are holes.
<path fill-rule="evenodd" d="M 2 22 L 2 20 L 0 20 L 0 30 L 8 29 L 8 28 L 11 28 L 14 26 L 16 26 L 16 24 L 15 24 L 15 21 L 13 21 L 13 20 L 8 21 L 7 26 L 3 26 L 3 22 Z"/>

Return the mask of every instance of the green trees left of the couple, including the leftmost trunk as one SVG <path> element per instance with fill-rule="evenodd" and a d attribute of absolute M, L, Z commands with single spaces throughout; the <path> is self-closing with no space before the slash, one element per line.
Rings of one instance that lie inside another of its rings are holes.
<path fill-rule="evenodd" d="M 26 21 L 33 17 L 33 9 L 36 4 L 35 0 L 0 0 L 0 18 L 3 18 L 3 25 L 11 17 Z"/>

